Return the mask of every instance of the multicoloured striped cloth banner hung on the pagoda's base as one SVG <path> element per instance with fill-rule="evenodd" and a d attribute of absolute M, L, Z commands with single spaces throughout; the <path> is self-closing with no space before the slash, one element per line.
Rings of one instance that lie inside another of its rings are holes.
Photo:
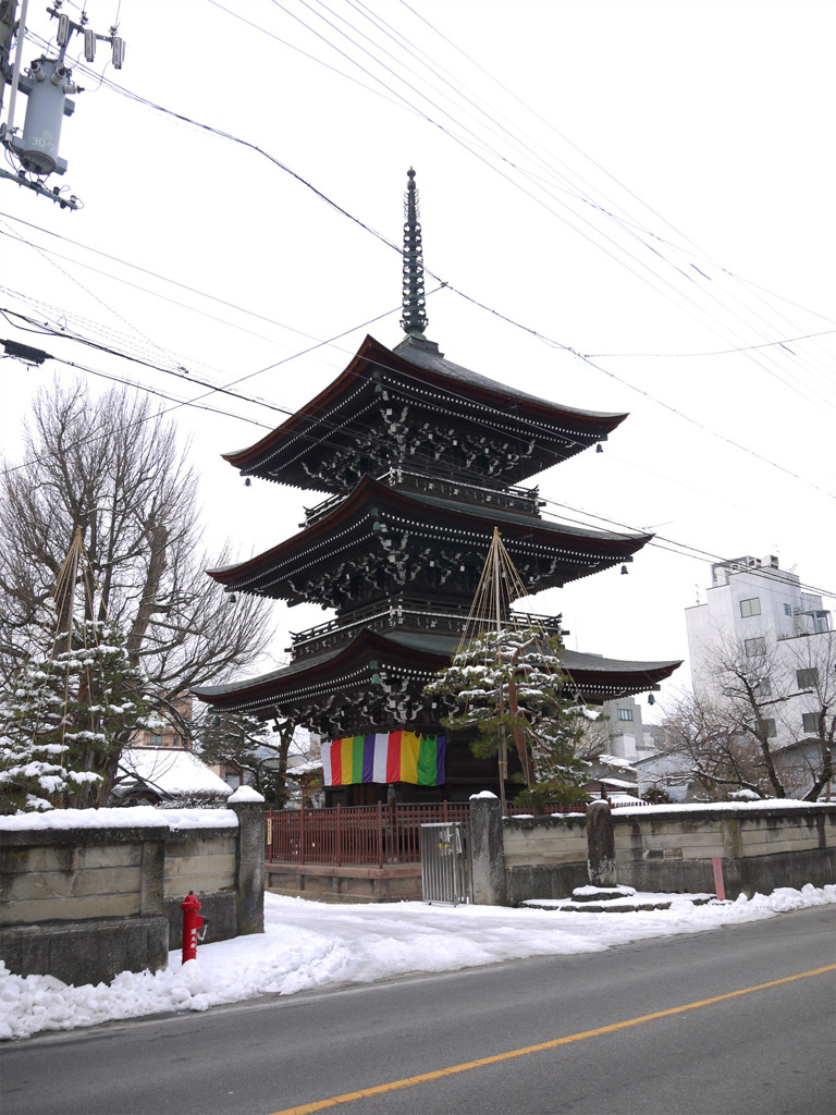
<path fill-rule="evenodd" d="M 344 736 L 322 745 L 324 784 L 409 782 L 441 786 L 446 750 L 447 736 L 417 736 L 414 731 Z"/>

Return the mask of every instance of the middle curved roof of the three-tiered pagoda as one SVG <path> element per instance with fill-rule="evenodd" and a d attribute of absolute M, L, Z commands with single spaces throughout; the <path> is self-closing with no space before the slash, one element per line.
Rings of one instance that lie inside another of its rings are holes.
<path fill-rule="evenodd" d="M 566 523 L 550 523 L 532 515 L 508 511 L 495 505 L 456 503 L 440 496 L 425 493 L 401 492 L 381 484 L 379 481 L 366 477 L 343 501 L 322 516 L 312 526 L 304 527 L 299 533 L 270 550 L 263 551 L 244 562 L 225 565 L 221 569 L 207 570 L 210 576 L 230 588 L 244 589 L 247 583 L 259 576 L 266 575 L 276 563 L 291 560 L 301 552 L 311 553 L 325 540 L 356 524 L 363 515 L 375 508 L 378 516 L 383 512 L 395 515 L 415 516 L 422 523 L 437 525 L 450 517 L 460 529 L 461 523 L 469 523 L 484 530 L 489 540 L 494 526 L 505 531 L 506 537 L 515 535 L 538 539 L 543 544 L 563 542 L 566 545 L 585 544 L 594 550 L 594 556 L 611 565 L 631 558 L 653 537 L 652 534 L 619 534 L 614 531 L 599 531 L 574 526 Z M 587 555 L 590 556 L 590 555 Z M 600 566 L 589 572 L 597 572 Z M 577 578 L 584 575 L 580 571 Z"/>

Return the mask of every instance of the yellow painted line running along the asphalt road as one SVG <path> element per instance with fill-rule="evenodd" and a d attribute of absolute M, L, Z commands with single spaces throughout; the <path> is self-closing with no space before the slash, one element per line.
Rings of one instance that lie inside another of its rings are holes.
<path fill-rule="evenodd" d="M 824 972 L 836 971 L 836 964 L 827 964 L 826 968 L 814 968 L 808 972 L 799 972 L 797 976 L 785 976 L 784 979 L 774 979 L 768 983 L 757 983 L 755 987 L 745 987 L 739 991 L 728 991 L 726 995 L 716 995 L 712 999 L 700 999 L 699 1002 L 687 1002 L 681 1007 L 671 1007 L 669 1010 L 657 1010 L 652 1015 L 641 1015 L 639 1018 L 629 1018 L 623 1022 L 613 1022 L 611 1026 L 600 1026 L 595 1030 L 584 1030 L 582 1034 L 570 1034 L 565 1038 L 554 1038 L 551 1041 L 541 1041 L 539 1045 L 526 1046 L 524 1049 L 511 1049 L 508 1053 L 499 1053 L 493 1057 L 480 1057 L 478 1060 L 468 1060 L 463 1065 L 451 1065 L 449 1068 L 440 1068 L 435 1073 L 421 1073 L 420 1076 L 408 1076 L 402 1080 L 391 1080 L 389 1084 L 378 1084 L 371 1088 L 361 1088 L 359 1092 L 347 1092 L 342 1096 L 331 1096 L 330 1099 L 317 1099 L 312 1104 L 302 1104 L 300 1107 L 286 1107 L 281 1112 L 273 1112 L 273 1115 L 310 1115 L 311 1112 L 321 1112 L 327 1107 L 336 1107 L 338 1104 L 350 1104 L 356 1099 L 366 1099 L 369 1096 L 379 1096 L 386 1092 L 397 1092 L 400 1088 L 412 1088 L 416 1084 L 427 1084 L 429 1080 L 440 1080 L 445 1076 L 455 1076 L 457 1073 L 469 1073 L 474 1068 L 483 1068 L 485 1065 L 498 1065 L 503 1060 L 511 1060 L 514 1057 L 527 1057 L 532 1053 L 543 1053 L 546 1049 L 556 1049 L 562 1045 L 570 1045 L 572 1041 L 583 1041 L 586 1038 L 596 1038 L 602 1034 L 614 1034 L 616 1030 L 626 1029 L 629 1026 L 641 1026 L 642 1022 L 652 1022 L 657 1018 L 669 1018 L 671 1015 L 681 1015 L 686 1010 L 697 1010 L 698 1007 L 710 1007 L 713 1002 L 723 1002 L 726 999 L 736 999 L 741 995 L 751 995 L 752 991 L 764 991 L 769 987 L 780 987 L 781 983 L 791 983 L 798 979 L 808 979 L 810 976 L 822 976 Z"/>

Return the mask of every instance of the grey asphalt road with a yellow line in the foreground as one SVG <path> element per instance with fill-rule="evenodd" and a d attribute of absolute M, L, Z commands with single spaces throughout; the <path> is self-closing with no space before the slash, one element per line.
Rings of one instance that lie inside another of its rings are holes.
<path fill-rule="evenodd" d="M 835 968 L 826 906 L 110 1024 L 0 1048 L 0 1111 L 833 1115 Z"/>

